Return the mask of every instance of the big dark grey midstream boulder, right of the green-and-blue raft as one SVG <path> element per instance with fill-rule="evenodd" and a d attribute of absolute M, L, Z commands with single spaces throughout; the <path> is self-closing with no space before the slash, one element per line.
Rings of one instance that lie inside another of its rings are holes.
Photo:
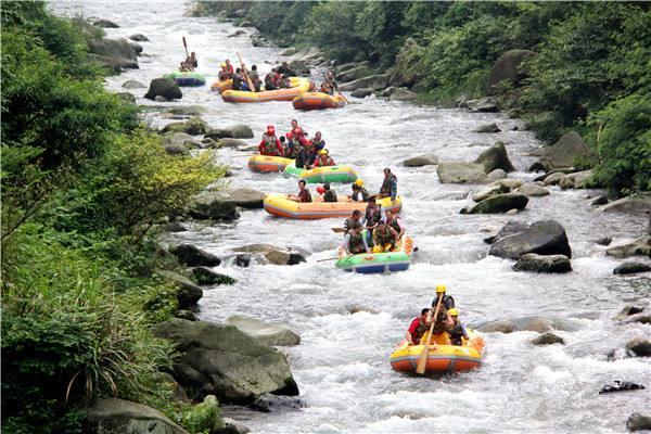
<path fill-rule="evenodd" d="M 505 229 L 508 230 L 495 238 L 490 255 L 509 259 L 518 259 L 527 253 L 572 257 L 565 229 L 556 220 L 540 220 L 528 226 L 511 225 Z"/>

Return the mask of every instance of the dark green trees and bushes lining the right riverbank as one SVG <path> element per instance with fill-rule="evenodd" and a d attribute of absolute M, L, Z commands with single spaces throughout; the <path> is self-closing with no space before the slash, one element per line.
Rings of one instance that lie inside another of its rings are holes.
<path fill-rule="evenodd" d="M 614 193 L 651 189 L 648 3 L 202 0 L 194 10 L 250 21 L 280 46 L 319 47 L 340 64 L 370 61 L 424 101 L 497 93 L 548 143 L 579 132 Z M 496 91 L 492 69 L 511 50 L 532 52 L 524 78 Z"/>

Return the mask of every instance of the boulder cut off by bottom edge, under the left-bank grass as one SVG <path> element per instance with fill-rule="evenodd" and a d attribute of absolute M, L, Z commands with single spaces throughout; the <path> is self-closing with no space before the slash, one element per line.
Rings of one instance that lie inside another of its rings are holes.
<path fill-rule="evenodd" d="M 88 433 L 188 434 L 161 411 L 130 400 L 98 399 L 86 412 Z"/>

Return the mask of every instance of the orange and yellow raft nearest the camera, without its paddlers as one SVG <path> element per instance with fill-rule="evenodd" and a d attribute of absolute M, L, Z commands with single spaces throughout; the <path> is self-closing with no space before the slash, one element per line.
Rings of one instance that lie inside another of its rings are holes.
<path fill-rule="evenodd" d="M 463 345 L 430 345 L 425 373 L 463 372 L 478 368 L 486 353 L 484 339 L 474 330 L 467 329 L 470 340 Z M 391 367 L 400 372 L 416 372 L 424 345 L 409 345 L 403 341 L 391 354 Z"/>

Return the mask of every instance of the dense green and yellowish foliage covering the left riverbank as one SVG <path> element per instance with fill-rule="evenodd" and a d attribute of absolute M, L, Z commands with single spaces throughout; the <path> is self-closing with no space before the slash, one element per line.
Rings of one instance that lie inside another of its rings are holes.
<path fill-rule="evenodd" d="M 221 175 L 169 156 L 137 107 L 106 92 L 88 29 L 41 2 L 2 3 L 2 427 L 80 433 L 102 396 L 182 423 L 157 380 L 177 309 L 152 228 Z M 193 422 L 193 429 L 200 430 Z"/>

